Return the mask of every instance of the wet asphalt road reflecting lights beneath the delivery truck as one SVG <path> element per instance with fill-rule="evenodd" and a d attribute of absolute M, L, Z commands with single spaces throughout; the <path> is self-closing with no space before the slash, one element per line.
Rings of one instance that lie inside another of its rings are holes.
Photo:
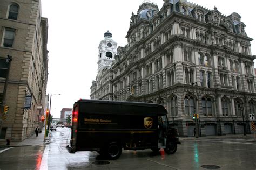
<path fill-rule="evenodd" d="M 243 138 L 182 140 L 173 155 L 129 150 L 117 160 L 97 152 L 70 154 L 69 138 L 70 128 L 57 128 L 50 144 L 0 148 L 0 169 L 256 169 L 256 143 Z"/>

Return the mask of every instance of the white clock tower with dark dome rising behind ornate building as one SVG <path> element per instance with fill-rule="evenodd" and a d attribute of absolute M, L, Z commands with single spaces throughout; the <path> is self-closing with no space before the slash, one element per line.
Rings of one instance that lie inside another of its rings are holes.
<path fill-rule="evenodd" d="M 104 68 L 111 68 L 114 61 L 114 55 L 117 54 L 117 43 L 112 40 L 112 34 L 107 31 L 104 33 L 104 39 L 99 43 L 98 55 L 98 76 Z"/>

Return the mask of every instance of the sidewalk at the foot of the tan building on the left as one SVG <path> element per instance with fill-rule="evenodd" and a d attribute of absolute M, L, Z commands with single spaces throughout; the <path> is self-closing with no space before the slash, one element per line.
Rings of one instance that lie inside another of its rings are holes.
<path fill-rule="evenodd" d="M 44 132 L 45 132 L 45 128 L 42 129 L 42 133 L 38 134 L 38 137 L 36 137 L 36 133 L 35 133 L 31 137 L 23 141 L 10 141 L 10 145 L 6 145 L 6 141 L 1 142 L 0 147 L 36 146 L 41 144 L 49 144 L 51 142 L 49 139 L 50 133 L 48 134 L 48 137 L 45 137 L 46 141 L 44 141 Z"/>

